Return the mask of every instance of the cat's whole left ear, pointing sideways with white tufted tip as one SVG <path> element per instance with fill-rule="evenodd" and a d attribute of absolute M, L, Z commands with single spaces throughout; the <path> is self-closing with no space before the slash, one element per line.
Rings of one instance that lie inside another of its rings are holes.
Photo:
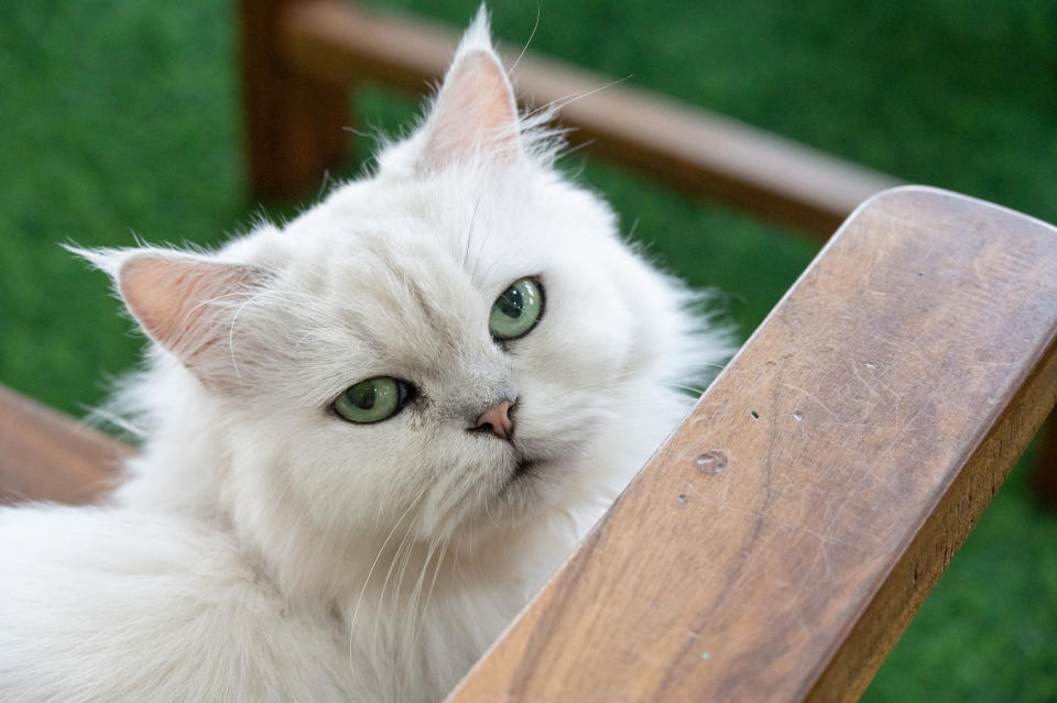
<path fill-rule="evenodd" d="M 261 270 L 162 250 L 77 253 L 113 277 L 143 331 L 203 383 L 227 386 L 238 377 L 231 326 Z"/>

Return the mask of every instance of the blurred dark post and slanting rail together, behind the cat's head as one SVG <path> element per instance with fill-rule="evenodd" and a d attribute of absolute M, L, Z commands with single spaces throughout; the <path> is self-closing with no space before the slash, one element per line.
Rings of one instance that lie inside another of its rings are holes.
<path fill-rule="evenodd" d="M 317 113 L 313 124 L 288 123 L 286 131 L 295 136 L 286 139 L 260 127 L 282 131 L 286 108 L 273 100 L 288 90 L 291 80 L 303 79 L 307 91 L 327 86 L 346 95 L 351 86 L 371 80 L 419 95 L 444 75 L 458 40 L 450 29 L 337 0 L 241 3 L 249 154 L 252 183 L 261 195 L 295 197 L 318 185 L 334 165 L 330 152 L 302 152 L 297 145 L 323 134 L 347 134 L 341 117 L 330 110 Z M 530 107 L 567 103 L 562 121 L 571 130 L 573 144 L 586 144 L 592 154 L 824 239 L 860 202 L 898 185 L 671 98 L 626 85 L 598 90 L 610 79 L 532 54 L 515 58 L 506 56 L 505 63 L 516 63 L 512 78 L 519 99 Z M 578 99 L 569 102 L 573 97 Z M 282 169 L 283 164 L 303 164 L 317 155 L 314 172 L 307 165 Z"/>

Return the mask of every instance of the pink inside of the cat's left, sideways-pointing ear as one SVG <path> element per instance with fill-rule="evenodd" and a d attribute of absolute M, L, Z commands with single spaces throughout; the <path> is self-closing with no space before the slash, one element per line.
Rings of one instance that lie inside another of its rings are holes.
<path fill-rule="evenodd" d="M 253 274 L 236 264 L 143 254 L 121 266 L 118 285 L 143 329 L 190 367 L 227 333 L 213 303 L 246 290 Z"/>

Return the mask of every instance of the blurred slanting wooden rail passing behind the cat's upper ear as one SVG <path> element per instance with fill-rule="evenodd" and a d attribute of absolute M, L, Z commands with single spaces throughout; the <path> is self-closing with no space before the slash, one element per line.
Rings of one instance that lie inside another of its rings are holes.
<path fill-rule="evenodd" d="M 451 61 L 457 33 L 408 17 L 390 18 L 334 0 L 290 7 L 280 37 L 286 62 L 334 85 L 375 80 L 423 92 Z M 515 57 L 508 56 L 506 65 Z M 528 106 L 565 103 L 570 141 L 821 238 L 863 200 L 896 185 L 734 120 L 552 59 L 526 55 L 513 78 Z M 569 100 L 576 97 L 576 100 Z"/>

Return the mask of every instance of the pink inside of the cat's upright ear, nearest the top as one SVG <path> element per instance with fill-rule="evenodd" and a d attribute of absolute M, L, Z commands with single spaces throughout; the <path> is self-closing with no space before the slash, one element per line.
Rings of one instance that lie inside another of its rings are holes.
<path fill-rule="evenodd" d="M 467 162 L 481 154 L 505 162 L 519 156 L 517 106 L 493 54 L 475 51 L 453 67 L 429 129 L 426 154 L 435 164 Z"/>

